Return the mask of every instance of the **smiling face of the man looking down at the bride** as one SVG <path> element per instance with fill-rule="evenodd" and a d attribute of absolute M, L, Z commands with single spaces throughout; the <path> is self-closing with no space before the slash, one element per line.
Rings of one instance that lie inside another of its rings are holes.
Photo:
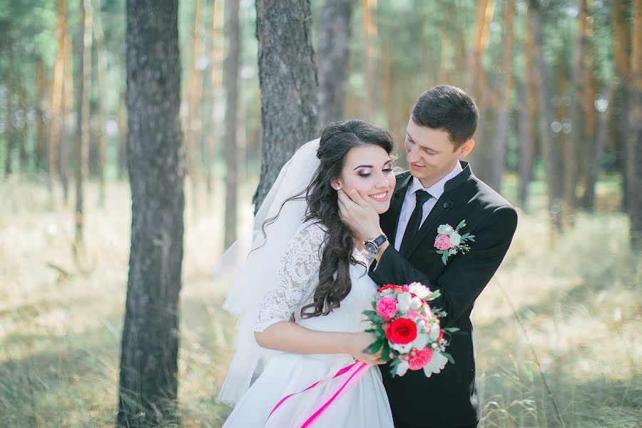
<path fill-rule="evenodd" d="M 428 188 L 452 171 L 458 159 L 470 153 L 474 141 L 455 149 L 446 131 L 419 126 L 410 118 L 404 146 L 410 173 Z"/>

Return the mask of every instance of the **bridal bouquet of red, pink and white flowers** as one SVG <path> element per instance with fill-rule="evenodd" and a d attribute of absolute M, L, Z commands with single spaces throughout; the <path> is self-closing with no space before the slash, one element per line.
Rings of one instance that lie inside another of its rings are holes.
<path fill-rule="evenodd" d="M 446 350 L 445 332 L 439 317 L 445 312 L 432 309 L 427 302 L 439 297 L 425 285 L 384 285 L 377 289 L 372 310 L 365 310 L 372 328 L 366 330 L 377 338 L 364 352 L 375 354 L 382 350 L 381 359 L 390 362 L 392 377 L 403 376 L 409 370 L 424 370 L 430 377 L 439 373 L 447 362 L 454 363 Z"/>

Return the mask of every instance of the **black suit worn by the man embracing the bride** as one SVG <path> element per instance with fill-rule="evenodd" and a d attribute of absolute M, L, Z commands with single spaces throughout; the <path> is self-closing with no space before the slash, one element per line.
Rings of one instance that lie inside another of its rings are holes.
<path fill-rule="evenodd" d="M 431 302 L 447 312 L 442 327 L 458 327 L 447 348 L 454 358 L 444 370 L 425 377 L 422 370 L 409 370 L 394 379 L 381 366 L 395 427 L 461 427 L 479 422 L 480 409 L 475 384 L 475 360 L 470 312 L 504 259 L 517 226 L 514 208 L 498 193 L 475 177 L 468 163 L 449 180 L 443 195 L 429 213 L 417 237 L 405 253 L 394 249 L 404 195 L 412 180 L 407 171 L 397 176 L 389 210 L 381 215 L 382 230 L 391 245 L 384 251 L 370 277 L 378 284 L 403 285 L 418 281 L 441 297 Z M 451 255 L 447 265 L 434 248 L 439 225 L 453 228 L 466 220 L 460 233 L 475 235 L 471 250 Z"/>

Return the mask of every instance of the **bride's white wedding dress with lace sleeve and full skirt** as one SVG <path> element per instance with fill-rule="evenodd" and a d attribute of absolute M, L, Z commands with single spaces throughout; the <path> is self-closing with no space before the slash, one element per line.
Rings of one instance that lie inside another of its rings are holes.
<path fill-rule="evenodd" d="M 321 245 L 325 231 L 317 223 L 305 223 L 295 233 L 280 258 L 277 285 L 263 297 L 255 331 L 263 331 L 279 321 L 290 320 L 295 314 L 297 324 L 312 330 L 328 332 L 361 332 L 367 328 L 362 311 L 371 309 L 377 286 L 363 265 L 351 265 L 352 289 L 341 306 L 329 315 L 301 319 L 301 307 L 312 302 L 318 284 Z M 367 259 L 358 250 L 355 258 L 366 265 Z M 225 428 L 301 427 L 327 397 L 337 392 L 345 376 L 331 379 L 343 367 L 354 363 L 350 355 L 297 355 L 278 352 L 267 362 L 260 376 L 243 395 L 223 425 Z M 345 388 L 320 414 L 310 427 L 393 427 L 392 414 L 381 373 L 376 366 L 367 366 L 352 387 Z M 300 394 L 321 379 L 330 379 Z M 282 402 L 268 419 L 272 408 Z"/>

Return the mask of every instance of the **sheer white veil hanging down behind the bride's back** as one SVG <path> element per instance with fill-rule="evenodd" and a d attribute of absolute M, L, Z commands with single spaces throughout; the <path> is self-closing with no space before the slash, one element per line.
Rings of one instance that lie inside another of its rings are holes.
<path fill-rule="evenodd" d="M 213 269 L 215 279 L 232 282 L 223 309 L 238 317 L 234 357 L 218 394 L 218 399 L 230 406 L 243 397 L 273 353 L 257 345 L 253 324 L 263 295 L 276 285 L 275 277 L 282 253 L 302 225 L 307 209 L 305 198 L 282 204 L 310 184 L 319 165 L 318 148 L 318 138 L 309 141 L 283 165 L 255 215 L 251 232 L 236 241 Z M 263 223 L 277 215 L 280 209 L 277 220 L 266 226 L 264 238 L 261 230 Z"/>

